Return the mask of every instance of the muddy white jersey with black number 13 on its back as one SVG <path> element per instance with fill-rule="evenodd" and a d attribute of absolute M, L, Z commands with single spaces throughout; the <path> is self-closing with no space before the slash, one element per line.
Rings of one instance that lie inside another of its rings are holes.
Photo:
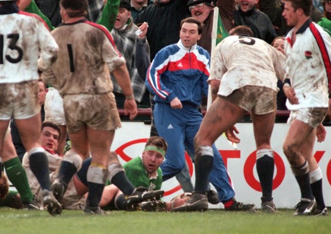
<path fill-rule="evenodd" d="M 0 7 L 0 22 L 0 84 L 38 80 L 58 51 L 47 25 L 14 3 Z"/>

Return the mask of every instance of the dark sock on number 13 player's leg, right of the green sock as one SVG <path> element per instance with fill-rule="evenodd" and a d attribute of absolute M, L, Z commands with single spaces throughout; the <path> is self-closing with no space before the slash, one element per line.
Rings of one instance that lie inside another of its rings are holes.
<path fill-rule="evenodd" d="M 41 189 L 50 191 L 48 158 L 44 152 L 34 152 L 29 157 L 30 169 L 36 176 Z"/>

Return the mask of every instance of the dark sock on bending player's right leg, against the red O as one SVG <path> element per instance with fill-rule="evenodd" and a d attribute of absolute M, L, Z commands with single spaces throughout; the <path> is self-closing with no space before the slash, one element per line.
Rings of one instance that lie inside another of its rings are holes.
<path fill-rule="evenodd" d="M 272 200 L 272 179 L 274 171 L 274 160 L 268 155 L 256 160 L 256 170 L 259 175 L 262 188 L 262 197 L 265 201 Z"/>

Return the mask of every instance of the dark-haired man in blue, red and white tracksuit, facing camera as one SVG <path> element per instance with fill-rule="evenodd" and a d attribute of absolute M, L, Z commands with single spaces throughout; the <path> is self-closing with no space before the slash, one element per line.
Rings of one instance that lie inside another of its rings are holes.
<path fill-rule="evenodd" d="M 163 181 L 184 168 L 185 146 L 194 153 L 194 138 L 203 119 L 198 107 L 202 95 L 208 94 L 210 56 L 207 50 L 197 45 L 200 36 L 200 21 L 184 19 L 179 42 L 161 49 L 147 72 L 146 87 L 155 95 L 157 132 L 169 145 L 161 165 Z M 223 159 L 215 145 L 213 149 L 213 169 L 209 181 L 226 208 L 242 210 L 238 207 L 242 208 L 244 204 L 234 199 L 235 192 Z"/>

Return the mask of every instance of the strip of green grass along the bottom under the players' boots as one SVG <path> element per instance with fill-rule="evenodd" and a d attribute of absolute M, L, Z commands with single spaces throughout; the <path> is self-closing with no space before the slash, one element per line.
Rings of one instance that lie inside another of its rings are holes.
<path fill-rule="evenodd" d="M 330 233 L 329 216 L 293 217 L 279 214 L 225 212 L 147 213 L 109 212 L 104 216 L 63 211 L 52 217 L 46 211 L 0 208 L 1 233 Z"/>

